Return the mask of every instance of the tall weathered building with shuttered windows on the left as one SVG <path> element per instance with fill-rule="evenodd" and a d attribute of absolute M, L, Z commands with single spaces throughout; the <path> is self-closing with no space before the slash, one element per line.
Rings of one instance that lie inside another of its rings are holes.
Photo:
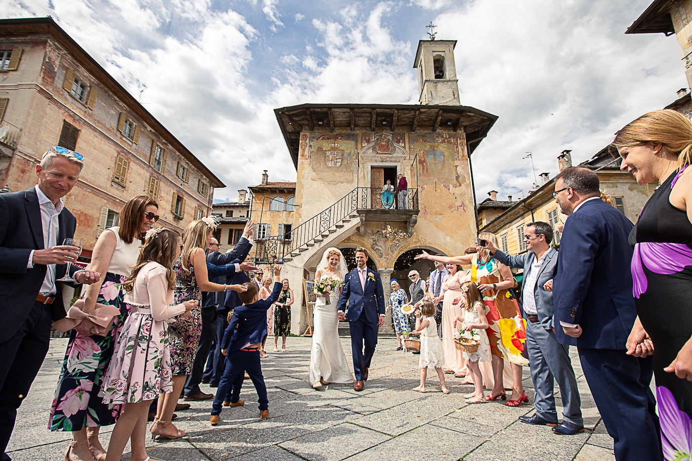
<path fill-rule="evenodd" d="M 159 225 L 210 214 L 222 183 L 51 18 L 0 20 L 0 184 L 24 190 L 49 147 L 84 155 L 64 198 L 88 259 L 136 195 L 159 204 Z"/>

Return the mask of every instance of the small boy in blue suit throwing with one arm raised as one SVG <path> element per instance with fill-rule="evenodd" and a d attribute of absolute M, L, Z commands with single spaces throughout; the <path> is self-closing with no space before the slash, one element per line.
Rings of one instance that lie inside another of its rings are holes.
<path fill-rule="evenodd" d="M 221 342 L 221 354 L 226 356 L 226 369 L 219 382 L 217 395 L 212 405 L 211 424 L 219 424 L 221 421 L 221 405 L 233 383 L 233 392 L 230 397 L 230 406 L 245 404 L 239 400 L 242 383 L 242 373 L 247 372 L 257 390 L 257 400 L 260 403 L 260 417 L 269 417 L 269 400 L 266 396 L 266 386 L 262 376 L 260 364 L 260 345 L 262 338 L 266 336 L 266 311 L 279 299 L 283 287 L 281 283 L 281 266 L 274 266 L 274 289 L 266 300 L 260 300 L 257 296 L 257 285 L 246 282 L 247 291 L 239 293 L 243 302 L 233 311 L 233 317 L 226 327 L 224 340 Z"/>

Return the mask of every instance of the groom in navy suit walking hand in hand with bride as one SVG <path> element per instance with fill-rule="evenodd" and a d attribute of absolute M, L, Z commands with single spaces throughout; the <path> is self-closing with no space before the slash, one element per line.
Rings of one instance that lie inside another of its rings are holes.
<path fill-rule="evenodd" d="M 339 320 L 348 320 L 350 323 L 353 369 L 356 372 L 356 384 L 353 388 L 357 391 L 363 390 L 363 381 L 367 381 L 367 369 L 370 368 L 377 345 L 377 329 L 385 323 L 382 280 L 379 273 L 365 267 L 366 262 L 365 248 L 356 248 L 358 266 L 346 275 L 338 305 Z M 347 314 L 344 314 L 347 302 L 349 307 Z"/>

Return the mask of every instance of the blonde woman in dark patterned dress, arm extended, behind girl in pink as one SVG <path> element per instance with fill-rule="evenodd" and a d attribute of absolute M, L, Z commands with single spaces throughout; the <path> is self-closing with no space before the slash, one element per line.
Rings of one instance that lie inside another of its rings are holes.
<path fill-rule="evenodd" d="M 161 394 L 158 399 L 156 418 L 151 427 L 154 437 L 172 440 L 185 435 L 185 431 L 179 431 L 171 423 L 171 417 L 185 386 L 185 380 L 188 379 L 192 369 L 194 354 L 199 345 L 199 335 L 202 331 L 199 304 L 202 300 L 202 291 L 233 290 L 238 293 L 246 291 L 243 285 L 227 285 L 209 281 L 204 250 L 209 245 L 214 228 L 215 221 L 211 218 L 191 222 L 183 232 L 181 255 L 173 264 L 173 270 L 176 273 L 175 302 L 197 300 L 198 305 L 190 311 L 191 316 L 176 316 L 168 322 L 173 392 Z"/>

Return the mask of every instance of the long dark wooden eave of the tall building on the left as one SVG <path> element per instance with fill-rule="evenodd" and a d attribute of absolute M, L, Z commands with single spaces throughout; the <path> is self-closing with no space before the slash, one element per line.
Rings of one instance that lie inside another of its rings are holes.
<path fill-rule="evenodd" d="M 143 120 L 152 130 L 159 136 L 172 145 L 185 159 L 187 159 L 197 170 L 211 180 L 212 186 L 215 188 L 225 188 L 226 185 L 221 182 L 214 173 L 212 173 L 199 159 L 197 159 L 190 150 L 188 150 L 178 138 L 173 136 L 166 127 L 161 124 L 152 114 L 147 111 L 120 83 L 96 62 L 96 60 L 84 51 L 75 40 L 67 35 L 67 33 L 58 26 L 51 17 L 39 18 L 22 18 L 22 19 L 0 19 L 0 37 L 28 37 L 30 35 L 47 35 L 52 37 L 55 42 L 62 45 L 71 57 L 80 63 L 87 72 L 98 80 L 104 87 L 109 89 L 127 106 L 127 109 L 132 114 L 136 115 L 140 120 Z"/>

